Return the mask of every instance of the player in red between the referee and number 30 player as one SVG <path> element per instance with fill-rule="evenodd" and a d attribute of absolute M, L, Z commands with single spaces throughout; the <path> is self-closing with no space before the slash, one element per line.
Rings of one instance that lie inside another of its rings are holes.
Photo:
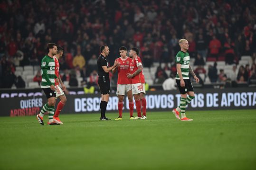
<path fill-rule="evenodd" d="M 131 58 L 126 56 L 127 49 L 125 46 L 121 46 L 119 48 L 120 56 L 115 61 L 118 62 L 118 66 L 112 69 L 112 72 L 118 72 L 118 80 L 117 80 L 117 89 L 116 95 L 118 96 L 118 113 L 119 116 L 115 120 L 122 120 L 123 113 L 123 98 L 125 92 L 127 93 L 127 97 L 129 99 L 129 109 L 130 109 L 130 119 L 133 120 L 133 93 L 132 93 L 132 79 L 128 79 L 127 73 L 130 72 L 130 63 Z"/>

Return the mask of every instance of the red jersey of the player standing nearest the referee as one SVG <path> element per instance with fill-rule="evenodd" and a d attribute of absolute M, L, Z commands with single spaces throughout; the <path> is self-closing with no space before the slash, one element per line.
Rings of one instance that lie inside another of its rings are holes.
<path fill-rule="evenodd" d="M 127 73 L 130 72 L 130 63 L 132 59 L 130 57 L 127 57 L 126 59 L 119 57 L 116 61 L 120 64 L 117 68 L 117 84 L 132 84 L 132 79 L 127 78 Z"/>

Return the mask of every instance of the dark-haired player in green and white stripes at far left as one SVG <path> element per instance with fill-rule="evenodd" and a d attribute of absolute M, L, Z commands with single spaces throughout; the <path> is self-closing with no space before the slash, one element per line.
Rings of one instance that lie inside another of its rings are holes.
<path fill-rule="evenodd" d="M 41 61 L 42 69 L 42 82 L 41 88 L 44 90 L 48 102 L 43 106 L 41 112 L 37 115 L 38 122 L 44 125 L 43 117 L 44 113 L 48 112 L 49 121 L 48 125 L 59 125 L 53 121 L 54 106 L 55 106 L 55 62 L 53 56 L 57 54 L 57 45 L 49 43 L 47 45 L 48 54 Z"/>

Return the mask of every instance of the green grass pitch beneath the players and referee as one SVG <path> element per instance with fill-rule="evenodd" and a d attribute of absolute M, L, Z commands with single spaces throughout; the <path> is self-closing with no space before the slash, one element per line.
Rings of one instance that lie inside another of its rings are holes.
<path fill-rule="evenodd" d="M 188 111 L 192 122 L 170 112 L 147 116 L 61 115 L 57 126 L 39 125 L 35 116 L 0 117 L 0 170 L 256 168 L 256 110 Z"/>

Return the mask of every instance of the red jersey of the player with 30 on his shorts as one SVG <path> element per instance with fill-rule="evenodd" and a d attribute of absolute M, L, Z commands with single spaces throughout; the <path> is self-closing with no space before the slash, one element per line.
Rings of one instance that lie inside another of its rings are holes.
<path fill-rule="evenodd" d="M 134 59 L 132 59 L 130 63 L 130 73 L 133 74 L 133 72 L 136 72 L 138 70 L 138 66 L 142 66 L 142 60 L 139 56 L 136 56 Z M 132 78 L 132 84 L 137 84 L 137 83 L 145 83 L 145 78 L 143 74 L 143 69 L 142 72 L 137 74 Z"/>

